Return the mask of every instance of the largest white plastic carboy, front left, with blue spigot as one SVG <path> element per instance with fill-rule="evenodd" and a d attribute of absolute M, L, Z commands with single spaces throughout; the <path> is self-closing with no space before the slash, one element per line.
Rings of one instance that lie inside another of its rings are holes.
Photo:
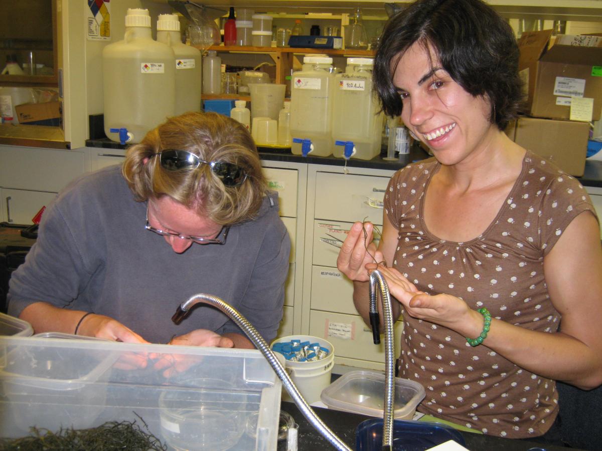
<path fill-rule="evenodd" d="M 175 112 L 176 66 L 170 46 L 151 36 L 148 10 L 129 8 L 123 40 L 102 51 L 105 133 L 139 143 Z"/>

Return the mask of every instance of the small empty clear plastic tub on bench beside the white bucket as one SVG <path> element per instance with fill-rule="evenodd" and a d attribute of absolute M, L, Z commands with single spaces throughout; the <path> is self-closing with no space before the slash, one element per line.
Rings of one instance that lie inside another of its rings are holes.
<path fill-rule="evenodd" d="M 424 394 L 418 382 L 395 378 L 394 418 L 411 420 Z M 359 370 L 332 382 L 322 390 L 320 399 L 330 409 L 382 418 L 384 396 L 385 375 Z"/>

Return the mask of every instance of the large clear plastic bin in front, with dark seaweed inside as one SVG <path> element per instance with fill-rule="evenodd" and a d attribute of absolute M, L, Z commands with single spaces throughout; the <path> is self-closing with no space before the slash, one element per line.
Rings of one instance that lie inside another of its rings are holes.
<path fill-rule="evenodd" d="M 282 384 L 259 351 L 0 337 L 0 352 L 0 437 L 143 421 L 176 449 L 276 450 Z"/>

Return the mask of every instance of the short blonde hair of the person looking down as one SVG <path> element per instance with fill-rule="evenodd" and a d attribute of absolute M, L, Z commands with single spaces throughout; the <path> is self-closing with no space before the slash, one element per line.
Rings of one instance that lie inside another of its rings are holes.
<path fill-rule="evenodd" d="M 169 171 L 155 153 L 186 150 L 204 161 L 237 164 L 247 179 L 240 186 L 224 186 L 211 167 Z M 126 152 L 122 173 L 138 201 L 168 195 L 222 225 L 256 216 L 267 190 L 261 162 L 249 130 L 234 119 L 214 112 L 188 112 L 170 117 Z"/>

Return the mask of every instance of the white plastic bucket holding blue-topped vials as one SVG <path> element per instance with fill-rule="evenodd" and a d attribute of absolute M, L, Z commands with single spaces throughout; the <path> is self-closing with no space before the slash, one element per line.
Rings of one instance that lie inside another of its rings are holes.
<path fill-rule="evenodd" d="M 288 343 L 291 340 L 320 343 L 321 347 L 328 349 L 328 355 L 321 360 L 307 362 L 285 361 L 287 372 L 291 376 L 291 379 L 293 379 L 294 384 L 299 388 L 299 391 L 305 400 L 309 404 L 318 402 L 320 401 L 322 390 L 330 385 L 330 376 L 332 375 L 332 366 L 334 365 L 335 360 L 335 348 L 332 346 L 332 343 L 309 335 L 291 335 L 282 337 L 274 340 L 272 346 L 274 346 L 275 343 Z M 282 399 L 292 401 L 286 389 L 283 387 L 282 390 Z"/>

